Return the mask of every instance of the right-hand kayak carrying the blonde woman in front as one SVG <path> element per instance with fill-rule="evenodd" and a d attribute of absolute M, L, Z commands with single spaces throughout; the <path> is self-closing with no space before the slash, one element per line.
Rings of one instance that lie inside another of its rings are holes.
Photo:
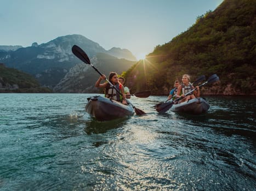
<path fill-rule="evenodd" d="M 209 104 L 204 98 L 190 99 L 187 102 L 173 104 L 171 111 L 181 112 L 185 114 L 203 114 L 210 108 Z"/>

